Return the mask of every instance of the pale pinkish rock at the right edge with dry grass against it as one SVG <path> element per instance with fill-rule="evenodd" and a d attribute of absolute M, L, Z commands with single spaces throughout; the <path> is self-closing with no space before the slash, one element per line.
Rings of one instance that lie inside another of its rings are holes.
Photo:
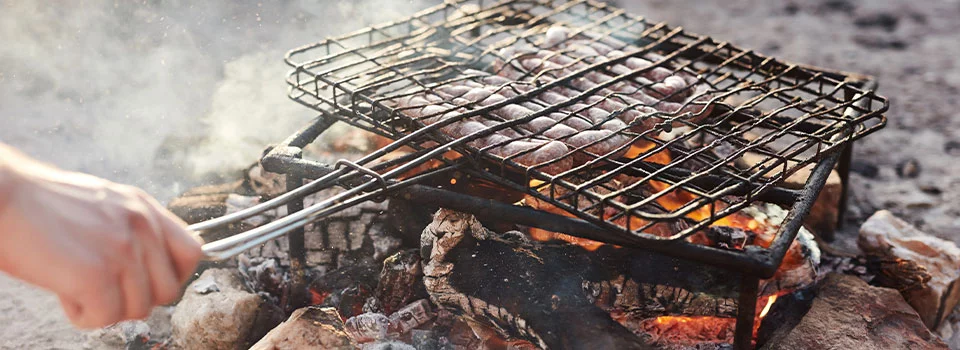
<path fill-rule="evenodd" d="M 937 329 L 960 300 L 960 248 L 953 242 L 923 233 L 881 210 L 860 227 L 857 244 L 868 255 L 911 260 L 926 268 L 931 279 L 904 290 L 903 297 L 930 329 Z"/>

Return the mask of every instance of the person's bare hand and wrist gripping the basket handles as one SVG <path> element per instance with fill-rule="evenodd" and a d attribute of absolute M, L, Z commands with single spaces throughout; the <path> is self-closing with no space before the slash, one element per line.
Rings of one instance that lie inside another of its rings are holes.
<path fill-rule="evenodd" d="M 77 327 L 174 301 L 202 255 L 185 227 L 140 189 L 0 144 L 0 271 L 57 294 Z"/>

